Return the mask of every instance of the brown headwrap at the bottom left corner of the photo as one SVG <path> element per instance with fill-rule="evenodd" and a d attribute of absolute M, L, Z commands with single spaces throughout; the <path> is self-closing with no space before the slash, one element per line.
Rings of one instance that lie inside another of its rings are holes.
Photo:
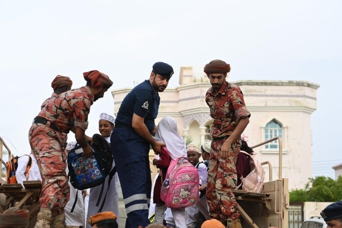
<path fill-rule="evenodd" d="M 0 214 L 0 227 L 28 227 L 29 211 L 10 207 Z"/>

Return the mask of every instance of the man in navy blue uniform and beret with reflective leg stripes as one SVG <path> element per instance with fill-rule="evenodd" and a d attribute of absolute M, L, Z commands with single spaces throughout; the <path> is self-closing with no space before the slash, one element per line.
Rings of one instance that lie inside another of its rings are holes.
<path fill-rule="evenodd" d="M 148 206 L 151 196 L 150 145 L 160 153 L 165 144 L 154 140 L 160 97 L 169 84 L 172 67 L 156 62 L 148 80 L 137 85 L 123 99 L 115 119 L 111 145 L 121 183 L 127 220 L 126 228 L 149 224 Z"/>

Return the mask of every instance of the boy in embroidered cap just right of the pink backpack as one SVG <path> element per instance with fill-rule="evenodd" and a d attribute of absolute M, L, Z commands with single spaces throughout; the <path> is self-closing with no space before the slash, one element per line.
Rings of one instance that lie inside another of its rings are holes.
<path fill-rule="evenodd" d="M 204 179 L 202 179 L 202 175 L 199 173 L 199 187 L 201 188 L 201 184 L 203 183 L 205 185 L 206 183 L 208 165 L 206 161 L 199 162 L 201 151 L 197 145 L 189 144 L 188 149 L 187 149 L 187 154 L 188 154 L 189 162 L 193 166 L 195 166 L 199 170 L 199 172 L 200 170 L 206 172 L 205 173 L 206 175 L 203 175 Z M 201 210 L 199 208 L 201 208 Z M 186 225 L 188 228 L 195 228 L 197 226 L 197 223 L 199 223 L 200 220 L 203 220 L 203 218 L 201 217 L 204 217 L 204 220 L 209 219 L 209 208 L 206 204 L 205 197 L 199 198 L 196 205 L 185 208 L 185 213 L 186 213 Z"/>

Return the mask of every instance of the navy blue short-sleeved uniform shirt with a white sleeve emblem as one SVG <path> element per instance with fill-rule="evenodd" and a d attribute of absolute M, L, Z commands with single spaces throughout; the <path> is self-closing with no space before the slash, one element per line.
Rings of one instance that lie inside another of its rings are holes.
<path fill-rule="evenodd" d="M 149 132 L 154 129 L 154 119 L 157 117 L 160 97 L 154 92 L 150 81 L 145 80 L 135 86 L 123 99 L 117 112 L 115 124 L 124 124 L 132 127 L 133 113 L 141 116 Z"/>

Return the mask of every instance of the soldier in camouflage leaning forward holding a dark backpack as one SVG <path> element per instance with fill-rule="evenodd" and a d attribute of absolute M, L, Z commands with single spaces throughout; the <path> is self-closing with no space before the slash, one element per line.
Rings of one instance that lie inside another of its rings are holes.
<path fill-rule="evenodd" d="M 31 151 L 37 158 L 44 179 L 35 228 L 66 227 L 64 207 L 69 198 L 65 172 L 67 133 L 75 133 L 76 141 L 82 146 L 86 158 L 92 154 L 87 143 L 91 138 L 85 135 L 90 106 L 103 97 L 113 82 L 107 75 L 96 70 L 83 75 L 86 86 L 50 99 L 34 118 L 29 130 Z"/>

